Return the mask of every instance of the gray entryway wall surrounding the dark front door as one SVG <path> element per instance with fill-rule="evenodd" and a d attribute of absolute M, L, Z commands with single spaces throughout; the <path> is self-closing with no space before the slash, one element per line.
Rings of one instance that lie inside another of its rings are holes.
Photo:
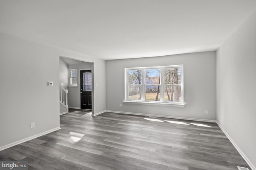
<path fill-rule="evenodd" d="M 77 69 L 77 85 L 68 87 L 68 107 L 80 108 L 80 69 L 91 69 L 92 63 L 80 62 L 68 65 L 68 69 Z"/>

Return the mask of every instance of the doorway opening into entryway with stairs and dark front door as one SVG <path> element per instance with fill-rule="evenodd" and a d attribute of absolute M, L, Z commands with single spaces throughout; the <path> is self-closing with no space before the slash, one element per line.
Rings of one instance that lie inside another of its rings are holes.
<path fill-rule="evenodd" d="M 91 110 L 93 115 L 93 65 L 94 63 L 92 62 L 60 57 L 59 84 L 63 86 L 64 89 L 68 89 L 68 109 L 88 109 Z M 62 110 L 61 107 L 60 105 L 60 111 Z"/>

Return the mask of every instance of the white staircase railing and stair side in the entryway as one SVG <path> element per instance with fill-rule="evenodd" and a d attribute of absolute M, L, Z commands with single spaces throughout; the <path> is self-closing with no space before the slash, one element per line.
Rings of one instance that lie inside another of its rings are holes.
<path fill-rule="evenodd" d="M 68 113 L 68 89 L 60 86 L 60 115 Z"/>

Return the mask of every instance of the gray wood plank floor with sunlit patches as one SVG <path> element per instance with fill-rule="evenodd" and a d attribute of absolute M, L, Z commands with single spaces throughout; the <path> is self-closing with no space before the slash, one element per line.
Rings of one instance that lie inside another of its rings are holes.
<path fill-rule="evenodd" d="M 58 131 L 2 150 L 0 160 L 27 160 L 31 170 L 248 167 L 216 123 L 116 113 L 92 117 L 70 109 L 60 124 Z"/>

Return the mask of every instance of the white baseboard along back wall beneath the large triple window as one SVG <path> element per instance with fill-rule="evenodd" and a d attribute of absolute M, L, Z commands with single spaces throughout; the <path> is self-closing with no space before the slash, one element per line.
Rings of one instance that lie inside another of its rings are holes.
<path fill-rule="evenodd" d="M 205 121 L 205 122 L 216 123 L 216 120 L 209 120 L 209 119 L 196 119 L 196 118 L 175 117 L 175 116 L 166 116 L 166 115 L 152 115 L 152 114 L 145 114 L 145 113 L 133 113 L 133 112 L 124 112 L 124 111 L 112 111 L 112 110 L 106 110 L 106 112 L 121 113 L 121 114 L 128 114 L 128 115 L 156 116 L 156 117 L 165 117 L 165 118 L 172 118 L 172 119 L 185 119 L 185 120 Z"/>

